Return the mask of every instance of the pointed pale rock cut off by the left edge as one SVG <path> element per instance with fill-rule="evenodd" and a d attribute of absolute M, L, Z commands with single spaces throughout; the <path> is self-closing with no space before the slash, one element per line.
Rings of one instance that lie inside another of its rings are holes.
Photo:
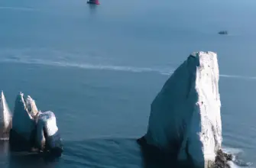
<path fill-rule="evenodd" d="M 8 139 L 11 130 L 11 111 L 5 100 L 4 92 L 1 92 L 0 97 L 0 138 Z"/>

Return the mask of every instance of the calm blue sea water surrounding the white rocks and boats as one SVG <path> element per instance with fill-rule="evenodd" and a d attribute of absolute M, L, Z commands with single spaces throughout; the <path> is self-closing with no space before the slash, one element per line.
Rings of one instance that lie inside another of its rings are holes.
<path fill-rule="evenodd" d="M 255 163 L 255 8 L 252 0 L 0 0 L 0 89 L 11 109 L 22 91 L 54 111 L 65 144 L 60 160 L 45 163 L 2 143 L 1 167 L 160 167 L 135 140 L 154 96 L 198 50 L 219 56 L 225 149 L 240 166 Z"/>

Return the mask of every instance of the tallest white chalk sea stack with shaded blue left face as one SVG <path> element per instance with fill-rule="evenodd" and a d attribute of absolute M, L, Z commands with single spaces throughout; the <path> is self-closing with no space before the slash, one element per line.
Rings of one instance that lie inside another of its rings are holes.
<path fill-rule="evenodd" d="M 211 167 L 222 145 L 219 66 L 213 52 L 192 53 L 151 104 L 147 144 L 196 167 Z"/>

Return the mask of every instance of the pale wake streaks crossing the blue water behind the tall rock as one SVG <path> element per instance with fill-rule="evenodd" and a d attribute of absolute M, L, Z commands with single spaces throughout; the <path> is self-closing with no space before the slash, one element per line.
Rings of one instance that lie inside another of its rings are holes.
<path fill-rule="evenodd" d="M 9 8 L 9 7 L 0 7 Z M 10 8 L 11 9 L 11 8 Z M 16 8 L 13 8 L 16 9 Z M 33 8 L 17 8 L 18 10 L 34 10 Z M 69 53 L 62 50 L 53 50 L 49 48 L 23 48 L 23 49 L 2 49 L 0 52 L 0 63 L 24 63 L 40 64 L 44 66 L 66 66 L 80 69 L 113 70 L 131 73 L 158 73 L 163 76 L 170 76 L 175 68 L 170 69 L 161 67 L 136 67 L 113 65 L 112 60 L 107 58 L 93 57 L 81 53 Z M 54 58 L 54 59 L 53 59 Z M 111 59 L 111 58 L 108 58 Z M 72 60 L 72 61 L 70 61 Z M 118 63 L 116 63 L 118 64 Z M 220 74 L 222 78 L 255 80 L 256 76 L 239 76 L 232 74 Z"/>

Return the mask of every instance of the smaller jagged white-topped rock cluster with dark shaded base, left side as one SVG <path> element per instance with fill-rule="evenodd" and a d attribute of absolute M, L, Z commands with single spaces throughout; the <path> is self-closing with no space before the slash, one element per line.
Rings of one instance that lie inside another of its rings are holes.
<path fill-rule="evenodd" d="M 52 111 L 38 111 L 34 99 L 19 93 L 10 131 L 11 150 L 34 150 L 60 157 L 63 145 Z"/>

